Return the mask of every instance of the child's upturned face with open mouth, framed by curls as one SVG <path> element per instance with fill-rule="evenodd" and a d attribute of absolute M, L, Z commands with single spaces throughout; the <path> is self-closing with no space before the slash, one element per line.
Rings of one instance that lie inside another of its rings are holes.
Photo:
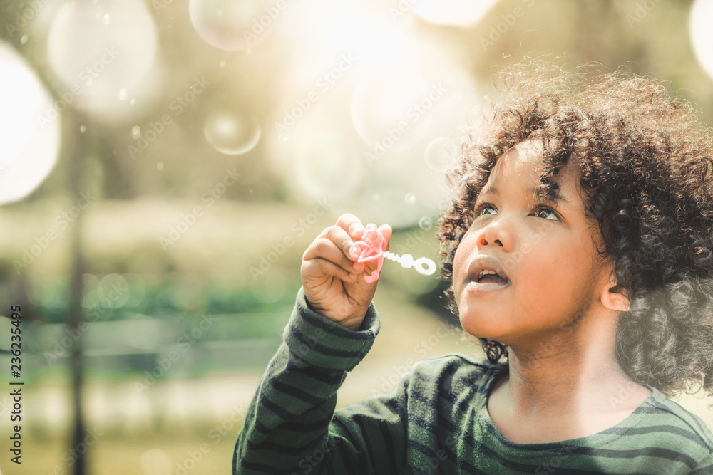
<path fill-rule="evenodd" d="M 539 184 L 543 168 L 538 150 L 523 142 L 498 160 L 453 259 L 453 291 L 463 329 L 513 347 L 563 328 L 588 304 L 598 303 L 608 277 L 593 243 L 593 237 L 601 241 L 599 229 L 585 219 L 578 165 L 570 161 L 556 175 L 566 202 L 560 200 L 556 207 L 536 203 L 528 191 Z M 498 193 L 486 194 L 488 187 Z M 500 263 L 508 286 L 478 291 L 484 287 L 473 283 L 478 278 L 473 259 L 481 254 Z"/>

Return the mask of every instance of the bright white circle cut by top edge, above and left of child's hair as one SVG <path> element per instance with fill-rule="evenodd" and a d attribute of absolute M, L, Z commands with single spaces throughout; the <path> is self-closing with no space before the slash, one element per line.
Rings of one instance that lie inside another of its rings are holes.
<path fill-rule="evenodd" d="M 413 3 L 416 15 L 436 25 L 473 26 L 498 0 L 419 0 Z"/>

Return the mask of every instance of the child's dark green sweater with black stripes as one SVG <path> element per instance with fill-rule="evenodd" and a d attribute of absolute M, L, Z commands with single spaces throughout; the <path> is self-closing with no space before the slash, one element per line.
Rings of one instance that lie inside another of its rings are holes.
<path fill-rule="evenodd" d="M 339 386 L 378 332 L 373 304 L 359 330 L 347 330 L 310 310 L 300 289 L 245 414 L 233 474 L 713 474 L 711 431 L 652 387 L 610 429 L 510 442 L 486 406 L 507 363 L 464 355 L 416 362 L 391 393 L 335 411 Z"/>

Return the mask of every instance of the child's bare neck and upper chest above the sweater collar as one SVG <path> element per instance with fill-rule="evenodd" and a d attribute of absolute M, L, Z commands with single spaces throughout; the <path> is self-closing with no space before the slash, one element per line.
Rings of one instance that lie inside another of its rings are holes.
<path fill-rule="evenodd" d="M 507 427 L 513 427 L 511 437 L 520 437 L 508 437 L 513 442 L 535 443 L 595 434 L 625 419 L 649 397 L 651 391 L 632 382 L 617 364 L 609 333 L 603 328 L 575 331 L 568 345 L 538 358 L 535 351 L 508 348 L 509 375 L 496 382 L 488 400 L 503 435 L 508 437 Z"/>

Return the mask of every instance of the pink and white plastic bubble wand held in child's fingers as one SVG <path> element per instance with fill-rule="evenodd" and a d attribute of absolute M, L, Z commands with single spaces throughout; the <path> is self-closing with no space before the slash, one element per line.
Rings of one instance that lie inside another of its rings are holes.
<path fill-rule="evenodd" d="M 349 248 L 349 255 L 356 259 L 357 262 L 377 261 L 376 269 L 371 272 L 371 276 L 364 276 L 366 283 L 372 283 L 379 279 L 384 258 L 400 263 L 403 268 L 413 267 L 422 276 L 430 276 L 436 272 L 436 263 L 432 259 L 419 257 L 414 261 L 414 256 L 411 256 L 411 254 L 399 256 L 399 254 L 386 251 L 386 239 L 376 228 L 376 224 L 367 224 L 365 226 L 364 235 L 361 236 L 359 241 L 355 241 L 352 244 L 352 247 Z"/>

